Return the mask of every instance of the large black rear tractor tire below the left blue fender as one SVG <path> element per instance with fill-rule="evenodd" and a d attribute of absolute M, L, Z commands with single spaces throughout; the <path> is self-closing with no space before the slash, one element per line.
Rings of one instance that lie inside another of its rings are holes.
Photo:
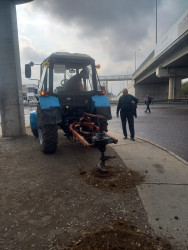
<path fill-rule="evenodd" d="M 49 124 L 38 128 L 38 135 L 42 152 L 46 154 L 54 153 L 58 143 L 57 125 Z"/>

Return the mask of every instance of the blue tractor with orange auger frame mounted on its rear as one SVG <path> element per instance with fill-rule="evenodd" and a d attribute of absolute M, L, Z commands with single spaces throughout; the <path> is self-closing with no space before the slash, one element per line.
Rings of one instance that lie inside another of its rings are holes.
<path fill-rule="evenodd" d="M 34 65 L 25 65 L 27 78 Z M 70 140 L 79 140 L 87 148 L 98 146 L 101 152 L 106 144 L 117 143 L 107 133 L 111 109 L 97 67 L 88 55 L 62 52 L 40 64 L 37 111 L 30 114 L 30 125 L 44 153 L 56 151 L 58 129 Z"/>

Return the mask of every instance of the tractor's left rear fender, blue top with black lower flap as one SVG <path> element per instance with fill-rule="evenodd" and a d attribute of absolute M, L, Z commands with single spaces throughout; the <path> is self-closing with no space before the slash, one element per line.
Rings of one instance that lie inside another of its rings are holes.
<path fill-rule="evenodd" d="M 39 96 L 37 126 L 62 122 L 59 99 L 55 96 Z"/>

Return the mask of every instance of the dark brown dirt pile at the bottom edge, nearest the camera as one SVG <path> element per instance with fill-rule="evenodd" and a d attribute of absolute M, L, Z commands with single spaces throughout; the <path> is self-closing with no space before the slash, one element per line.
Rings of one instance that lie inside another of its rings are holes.
<path fill-rule="evenodd" d="M 134 225 L 125 221 L 116 221 L 111 227 L 104 227 L 82 235 L 70 246 L 74 250 L 82 249 L 145 249 L 170 250 L 168 243 L 160 238 L 141 233 Z"/>

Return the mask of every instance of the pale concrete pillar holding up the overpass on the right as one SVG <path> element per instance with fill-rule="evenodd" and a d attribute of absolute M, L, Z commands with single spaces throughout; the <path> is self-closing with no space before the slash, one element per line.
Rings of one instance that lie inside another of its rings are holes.
<path fill-rule="evenodd" d="M 180 98 L 181 98 L 181 78 L 170 76 L 168 99 L 180 99 Z"/>

